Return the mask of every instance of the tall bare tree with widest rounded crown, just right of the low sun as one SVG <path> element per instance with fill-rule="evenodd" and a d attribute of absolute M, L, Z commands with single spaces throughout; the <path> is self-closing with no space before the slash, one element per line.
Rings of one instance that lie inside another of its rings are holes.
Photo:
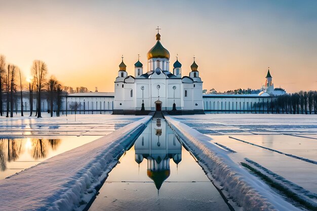
<path fill-rule="evenodd" d="M 41 115 L 41 93 L 45 87 L 46 75 L 47 75 L 47 66 L 45 62 L 35 60 L 31 68 L 33 74 L 35 88 L 37 92 L 37 118 L 42 117 Z"/>

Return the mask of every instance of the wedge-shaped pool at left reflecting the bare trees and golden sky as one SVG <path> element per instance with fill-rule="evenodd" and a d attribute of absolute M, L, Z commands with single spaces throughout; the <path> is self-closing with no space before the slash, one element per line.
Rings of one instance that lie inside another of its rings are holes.
<path fill-rule="evenodd" d="M 99 137 L 0 138 L 0 180 Z"/>

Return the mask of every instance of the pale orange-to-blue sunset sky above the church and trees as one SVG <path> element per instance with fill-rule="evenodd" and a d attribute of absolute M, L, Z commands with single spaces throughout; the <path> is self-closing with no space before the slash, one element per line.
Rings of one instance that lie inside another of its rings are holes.
<path fill-rule="evenodd" d="M 195 55 L 204 89 L 259 89 L 267 68 L 288 93 L 317 90 L 317 1 L 4 1 L 0 54 L 30 75 L 35 59 L 64 86 L 113 92 L 121 56 L 128 74 L 155 44 Z M 145 72 L 144 71 L 144 72 Z"/>

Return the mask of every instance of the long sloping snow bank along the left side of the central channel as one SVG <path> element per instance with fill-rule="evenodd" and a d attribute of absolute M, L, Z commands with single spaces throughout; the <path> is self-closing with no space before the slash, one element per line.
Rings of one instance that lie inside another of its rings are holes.
<path fill-rule="evenodd" d="M 0 180 L 0 210 L 82 210 L 150 119 Z"/>

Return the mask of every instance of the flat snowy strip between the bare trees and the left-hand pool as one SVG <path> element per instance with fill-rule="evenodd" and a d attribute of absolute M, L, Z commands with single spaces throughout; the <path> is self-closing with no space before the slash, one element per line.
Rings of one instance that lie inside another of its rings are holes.
<path fill-rule="evenodd" d="M 111 114 L 68 114 L 43 118 L 35 116 L 0 117 L 0 137 L 104 136 L 141 116 Z"/>

